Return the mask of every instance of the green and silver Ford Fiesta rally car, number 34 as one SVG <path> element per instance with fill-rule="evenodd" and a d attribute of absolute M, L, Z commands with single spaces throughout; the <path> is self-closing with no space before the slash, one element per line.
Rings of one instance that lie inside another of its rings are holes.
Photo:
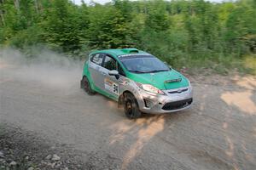
<path fill-rule="evenodd" d="M 124 105 L 125 115 L 182 111 L 192 104 L 189 80 L 137 48 L 94 51 L 84 63 L 81 88 Z"/>

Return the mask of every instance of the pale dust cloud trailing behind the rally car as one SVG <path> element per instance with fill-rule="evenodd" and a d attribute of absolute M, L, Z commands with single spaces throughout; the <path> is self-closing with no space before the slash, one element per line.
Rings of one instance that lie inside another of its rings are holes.
<path fill-rule="evenodd" d="M 44 48 L 34 51 L 34 57 L 27 57 L 17 49 L 0 48 L 0 77 L 40 82 L 51 88 L 79 88 L 83 61 Z"/>

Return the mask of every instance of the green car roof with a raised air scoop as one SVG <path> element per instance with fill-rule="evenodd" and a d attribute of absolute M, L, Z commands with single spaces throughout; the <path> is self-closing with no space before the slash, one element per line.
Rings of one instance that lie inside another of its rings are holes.
<path fill-rule="evenodd" d="M 137 48 L 103 49 L 103 50 L 93 51 L 91 54 L 96 54 L 96 53 L 111 54 L 116 59 L 118 59 L 119 56 L 122 56 L 122 55 L 148 54 L 142 50 L 138 50 Z"/>

